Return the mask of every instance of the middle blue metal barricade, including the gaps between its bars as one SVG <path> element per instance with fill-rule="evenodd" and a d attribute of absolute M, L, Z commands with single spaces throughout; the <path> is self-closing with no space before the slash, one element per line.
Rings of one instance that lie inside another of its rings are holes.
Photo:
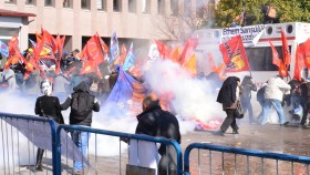
<path fill-rule="evenodd" d="M 81 125 L 59 125 L 56 128 L 56 174 L 65 174 L 64 171 L 66 171 L 68 174 L 72 173 L 71 171 L 73 171 L 73 166 L 74 166 L 74 162 L 70 158 L 68 158 L 68 156 L 70 155 L 65 155 L 62 153 L 63 150 L 66 150 L 65 147 L 68 147 L 68 145 L 64 144 L 64 142 L 66 142 L 68 144 L 68 137 L 65 138 L 64 136 L 62 136 L 62 132 L 66 131 L 71 133 L 71 137 L 72 134 L 74 134 L 74 132 L 84 132 L 89 134 L 92 134 L 94 136 L 91 136 L 91 138 L 93 140 L 93 142 L 89 142 L 89 150 L 85 153 L 85 156 L 82 157 L 82 166 L 83 166 L 83 171 L 82 174 L 125 174 L 124 172 L 125 166 L 124 164 L 128 164 L 128 157 L 126 157 L 125 151 L 123 151 L 122 153 L 122 145 L 125 144 L 127 145 L 125 142 L 123 141 L 133 141 L 136 140 L 137 142 L 152 142 L 154 144 L 156 143 L 161 143 L 161 144 L 165 144 L 165 145 L 170 145 L 170 147 L 173 147 L 175 150 L 175 155 L 176 155 L 176 171 L 178 175 L 183 174 L 183 157 L 182 157 L 182 148 L 179 146 L 179 144 L 174 141 L 174 140 L 167 140 L 167 138 L 163 138 L 163 137 L 152 137 L 152 136 L 147 136 L 147 135 L 140 135 L 140 134 L 128 134 L 128 133 L 121 133 L 121 132 L 113 132 L 113 131 L 105 131 L 105 130 L 97 130 L 97 128 L 91 128 L 91 127 L 85 127 L 85 126 L 81 126 Z M 80 133 L 81 134 L 81 133 Z M 69 134 L 68 134 L 69 135 Z M 111 150 L 113 148 L 113 145 L 110 142 L 105 142 L 103 144 L 99 144 L 99 137 L 100 136 L 106 136 L 106 137 L 111 137 L 111 138 L 116 138 L 117 140 L 117 144 L 118 144 L 118 153 L 116 155 L 110 155 L 110 156 L 99 156 L 97 153 L 100 150 L 104 150 L 104 145 L 107 145 Z M 74 136 L 73 136 L 74 137 Z M 80 140 L 81 141 L 81 140 Z M 168 146 L 166 146 L 168 147 Z M 90 154 L 90 150 L 92 148 L 92 154 Z M 74 148 L 73 148 L 74 150 Z M 156 147 L 156 152 L 157 152 L 157 147 Z M 69 153 L 72 154 L 71 157 L 75 156 L 74 153 Z M 80 152 L 80 154 L 82 154 Z M 146 153 L 145 153 L 146 154 Z M 62 158 L 64 157 L 63 162 Z M 108 159 L 110 158 L 110 159 Z M 74 159 L 74 158 L 73 158 Z M 91 166 L 87 166 L 91 165 Z M 106 167 L 106 165 L 110 164 L 111 167 Z M 68 168 L 68 169 L 65 169 Z M 117 169 L 118 168 L 118 169 Z M 86 171 L 86 172 L 85 172 Z"/>

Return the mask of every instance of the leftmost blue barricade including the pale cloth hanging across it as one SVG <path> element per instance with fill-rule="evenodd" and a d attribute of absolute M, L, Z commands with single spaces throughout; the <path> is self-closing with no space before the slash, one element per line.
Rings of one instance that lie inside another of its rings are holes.
<path fill-rule="evenodd" d="M 46 117 L 0 113 L 0 174 L 32 174 L 37 161 L 37 147 L 48 148 L 43 154 L 45 174 L 55 174 L 55 125 Z M 43 138 L 42 138 L 43 137 Z M 52 156 L 52 158 L 51 158 Z M 48 163 L 51 158 L 52 162 Z"/>

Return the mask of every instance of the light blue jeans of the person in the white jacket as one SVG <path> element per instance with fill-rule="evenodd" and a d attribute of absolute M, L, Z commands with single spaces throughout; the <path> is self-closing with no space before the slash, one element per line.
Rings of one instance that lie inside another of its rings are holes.
<path fill-rule="evenodd" d="M 261 124 L 265 125 L 267 117 L 269 116 L 270 113 L 270 109 L 271 105 L 276 109 L 279 120 L 280 120 L 280 124 L 285 124 L 286 123 L 286 117 L 283 114 L 283 109 L 281 106 L 281 101 L 279 100 L 275 100 L 275 99 L 266 99 L 264 106 L 262 106 L 262 116 L 261 116 Z"/>

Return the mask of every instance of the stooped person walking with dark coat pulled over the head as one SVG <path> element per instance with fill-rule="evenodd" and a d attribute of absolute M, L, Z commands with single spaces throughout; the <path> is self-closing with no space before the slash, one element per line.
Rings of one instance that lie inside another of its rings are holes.
<path fill-rule="evenodd" d="M 217 96 L 217 102 L 223 104 L 223 110 L 226 112 L 227 116 L 223 122 L 220 130 L 214 134 L 224 136 L 224 133 L 227 131 L 229 125 L 232 128 L 232 134 L 239 134 L 239 127 L 236 123 L 236 117 L 234 116 L 237 104 L 239 103 L 239 93 L 240 79 L 237 76 L 228 76 L 224 81 Z"/>

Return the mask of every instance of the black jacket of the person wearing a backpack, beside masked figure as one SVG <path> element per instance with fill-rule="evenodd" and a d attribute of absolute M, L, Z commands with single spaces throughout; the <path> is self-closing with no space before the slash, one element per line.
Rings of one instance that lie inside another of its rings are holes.
<path fill-rule="evenodd" d="M 91 104 L 90 105 L 90 106 L 92 106 L 91 110 L 94 112 L 100 111 L 99 103 L 97 102 L 95 103 L 95 97 L 92 94 L 90 94 L 89 87 L 84 81 L 82 81 L 80 84 L 74 86 L 73 91 L 74 92 L 65 100 L 65 102 L 63 104 L 61 104 L 62 110 L 66 110 L 69 106 L 72 105 L 72 96 L 74 96 L 75 94 L 79 94 L 79 93 L 86 93 L 87 99 L 85 99 L 85 100 L 89 101 L 87 104 Z M 86 114 L 86 116 L 75 116 L 71 111 L 70 112 L 70 124 L 91 126 L 92 117 L 93 117 L 92 111 L 90 111 L 89 114 Z M 83 120 L 81 120 L 81 119 L 83 119 Z"/>

